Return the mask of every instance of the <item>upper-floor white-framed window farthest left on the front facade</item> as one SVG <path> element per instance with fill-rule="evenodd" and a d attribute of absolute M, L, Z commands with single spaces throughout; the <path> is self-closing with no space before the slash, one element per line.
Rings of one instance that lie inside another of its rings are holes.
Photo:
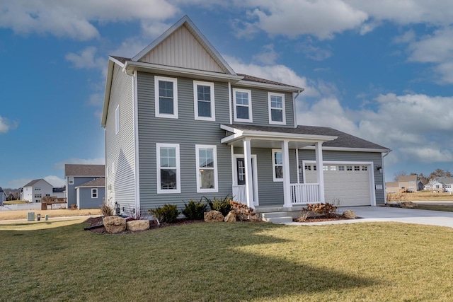
<path fill-rule="evenodd" d="M 178 80 L 154 76 L 156 117 L 178 118 Z"/>

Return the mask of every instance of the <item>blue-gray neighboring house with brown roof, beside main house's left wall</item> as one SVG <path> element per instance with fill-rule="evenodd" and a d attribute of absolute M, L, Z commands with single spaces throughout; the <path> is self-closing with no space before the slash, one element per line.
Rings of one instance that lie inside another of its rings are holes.
<path fill-rule="evenodd" d="M 78 209 L 98 208 L 102 204 L 102 198 L 105 196 L 105 165 L 64 165 L 64 178 L 66 178 L 66 194 L 68 208 L 75 204 Z M 96 182 L 92 182 L 96 180 Z M 103 182 L 101 184 L 101 182 Z M 92 184 L 96 189 L 96 197 L 86 194 L 88 191 L 87 184 Z M 101 197 L 99 199 L 98 197 Z M 98 204 L 98 201 L 101 203 Z M 96 206 L 93 206 L 96 204 Z"/>

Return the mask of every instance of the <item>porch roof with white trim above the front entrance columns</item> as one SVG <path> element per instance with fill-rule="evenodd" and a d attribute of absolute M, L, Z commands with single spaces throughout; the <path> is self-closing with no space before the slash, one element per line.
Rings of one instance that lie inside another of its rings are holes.
<path fill-rule="evenodd" d="M 289 141 L 290 149 L 303 148 L 317 142 L 332 141 L 336 136 L 304 133 L 302 129 L 254 126 L 242 124 L 221 124 L 221 129 L 231 132 L 221 141 L 223 144 L 242 146 L 243 139 L 251 139 L 251 146 L 256 148 L 281 148 L 282 141 Z"/>

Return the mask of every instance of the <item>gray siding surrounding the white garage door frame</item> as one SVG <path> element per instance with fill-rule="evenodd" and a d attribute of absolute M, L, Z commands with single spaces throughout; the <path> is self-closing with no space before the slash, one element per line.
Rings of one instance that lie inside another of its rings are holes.
<path fill-rule="evenodd" d="M 301 165 L 302 161 L 316 161 L 314 150 L 299 150 L 299 162 Z M 323 161 L 369 161 L 376 167 L 376 165 L 382 166 L 382 155 L 378 152 L 323 151 Z M 304 168 L 302 167 L 302 169 Z M 373 175 L 374 185 L 382 185 L 382 188 L 384 188 L 384 174 L 374 170 Z M 301 183 L 304 182 L 303 177 L 303 173 L 301 173 Z M 374 187 L 374 194 L 376 194 L 376 204 L 383 204 L 384 190 L 376 190 L 376 187 Z"/>

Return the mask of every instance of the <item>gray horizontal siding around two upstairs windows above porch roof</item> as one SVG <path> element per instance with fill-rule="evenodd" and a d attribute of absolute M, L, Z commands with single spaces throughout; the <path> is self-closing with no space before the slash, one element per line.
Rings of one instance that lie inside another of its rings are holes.
<path fill-rule="evenodd" d="M 271 127 L 289 127 L 294 128 L 294 106 L 292 103 L 292 93 L 285 94 L 285 119 L 286 125 L 283 124 L 269 124 L 269 100 L 268 93 L 281 93 L 279 91 L 263 90 L 257 88 L 245 88 L 243 86 L 231 87 L 231 98 L 233 98 L 233 89 L 248 89 L 251 90 L 252 98 L 252 116 L 253 123 L 249 122 L 235 122 L 233 113 L 233 124 L 253 124 L 256 126 L 271 126 Z M 231 112 L 234 112 L 234 99 L 231 100 Z"/>

